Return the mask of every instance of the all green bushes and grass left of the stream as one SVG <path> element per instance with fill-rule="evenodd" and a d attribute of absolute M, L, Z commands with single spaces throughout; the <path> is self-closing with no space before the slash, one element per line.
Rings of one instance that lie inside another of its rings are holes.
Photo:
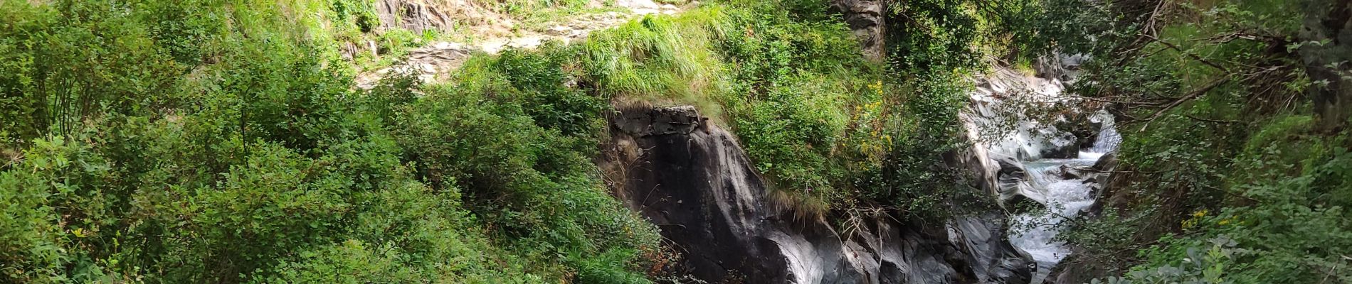
<path fill-rule="evenodd" d="M 0 1 L 0 279 L 648 283 L 671 256 L 591 162 L 625 104 L 699 105 L 803 217 L 946 213 L 980 31 L 921 4 L 890 63 L 825 1 L 727 1 L 356 90 L 442 35 L 353 0 Z"/>

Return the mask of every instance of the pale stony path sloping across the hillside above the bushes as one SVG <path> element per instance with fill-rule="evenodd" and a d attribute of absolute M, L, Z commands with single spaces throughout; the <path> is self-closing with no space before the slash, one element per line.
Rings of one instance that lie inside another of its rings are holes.
<path fill-rule="evenodd" d="M 380 78 L 384 78 L 391 73 L 414 74 L 423 82 L 435 82 L 445 79 L 446 74 L 458 69 L 469 54 L 475 51 L 498 54 L 507 48 L 531 50 L 549 40 L 558 40 L 566 44 L 587 38 L 587 35 L 592 31 L 611 28 L 634 17 L 653 13 L 675 15 L 685 7 L 695 7 L 698 4 L 698 1 L 691 1 L 677 7 L 672 4 L 658 5 L 652 0 L 617 0 L 615 7 L 627 8 L 627 12 L 571 16 L 568 19 L 550 23 L 550 28 L 545 31 L 526 31 L 506 36 L 488 35 L 485 39 L 475 43 L 435 42 L 410 50 L 404 61 L 395 63 L 395 66 L 358 74 L 356 78 L 357 87 L 370 89 L 377 81 L 380 81 Z"/>

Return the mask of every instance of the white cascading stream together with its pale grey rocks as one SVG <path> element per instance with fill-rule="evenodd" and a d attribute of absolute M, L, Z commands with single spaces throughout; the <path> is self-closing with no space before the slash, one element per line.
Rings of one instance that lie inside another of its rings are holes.
<path fill-rule="evenodd" d="M 1042 121 L 1023 114 L 1028 106 L 1072 105 L 1068 102 L 1073 98 L 1064 90 L 1067 81 L 1073 79 L 1080 59 L 1061 55 L 1060 66 L 1048 62 L 1052 66 L 1042 71 L 1061 74 L 1051 77 L 995 66 L 991 73 L 975 78 L 977 87 L 971 93 L 963 114 L 969 139 L 983 145 L 998 176 L 1000 206 L 1017 211 L 1009 217 L 1006 233 L 1010 245 L 1036 262 L 1032 283 L 1042 283 L 1052 268 L 1071 254 L 1064 242 L 1056 241 L 1061 229 L 1059 225 L 1094 205 L 1095 178 L 1101 174 L 1086 170 L 1121 143 L 1113 116 L 1105 110 L 1071 109 L 1069 116 L 1041 117 Z M 1088 121 L 1076 124 L 1067 120 Z M 1059 129 L 1076 125 L 1099 127 L 1092 145 L 1082 148 L 1080 141 L 1087 137 L 1076 137 L 1071 129 Z M 1033 203 L 1041 206 L 1018 210 Z"/>

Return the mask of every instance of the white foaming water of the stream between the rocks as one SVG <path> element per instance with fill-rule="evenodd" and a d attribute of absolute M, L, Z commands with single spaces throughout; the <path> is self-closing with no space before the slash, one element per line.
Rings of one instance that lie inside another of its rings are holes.
<path fill-rule="evenodd" d="M 1071 253 L 1064 242 L 1056 241 L 1057 225 L 1075 218 L 1094 205 L 1092 175 L 1073 168 L 1088 168 L 1103 153 L 1117 148 L 1119 136 L 1111 125 L 1105 127 L 1094 147 L 1080 151 L 1076 159 L 1038 159 L 1022 162 L 1028 183 L 1044 192 L 1045 209 L 1014 215 L 1010 244 L 1037 262 L 1033 283 L 1042 283 L 1057 262 Z"/>

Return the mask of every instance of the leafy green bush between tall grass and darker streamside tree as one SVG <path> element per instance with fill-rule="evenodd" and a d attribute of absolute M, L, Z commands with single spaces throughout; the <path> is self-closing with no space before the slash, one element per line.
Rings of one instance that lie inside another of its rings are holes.
<path fill-rule="evenodd" d="M 864 113 L 854 106 L 883 100 L 882 73 L 857 48 L 841 48 L 856 43 L 838 20 L 800 13 L 825 9 L 818 7 L 823 3 L 788 5 L 750 4 L 730 15 L 741 32 L 721 42 L 733 78 L 721 100 L 748 155 L 775 182 L 775 197 L 802 214 L 821 215 L 856 198 L 846 191 L 849 162 L 868 153 L 848 144 L 859 133 L 850 124 Z M 876 105 L 869 110 L 877 112 Z"/>

